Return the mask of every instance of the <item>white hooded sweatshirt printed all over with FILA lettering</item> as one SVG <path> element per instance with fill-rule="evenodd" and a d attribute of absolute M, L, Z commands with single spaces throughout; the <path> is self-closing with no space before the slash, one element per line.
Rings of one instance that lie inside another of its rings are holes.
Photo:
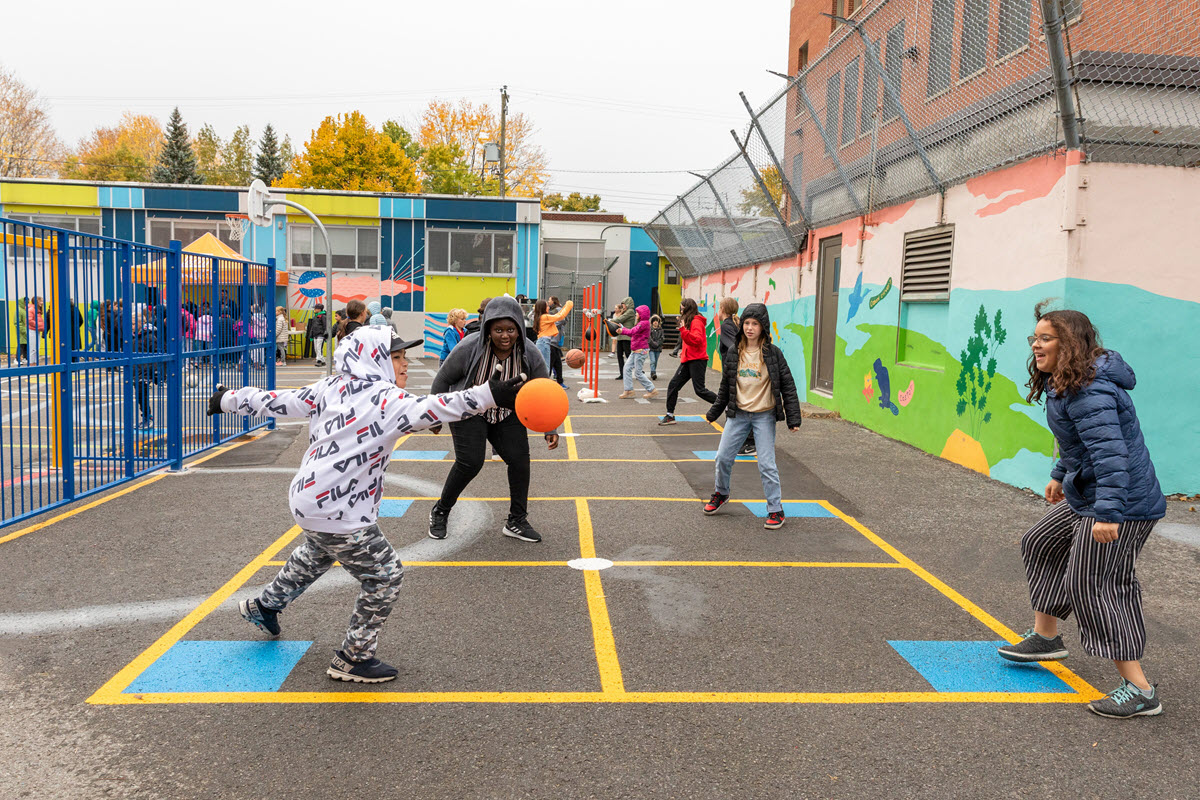
<path fill-rule="evenodd" d="M 336 374 L 304 389 L 236 389 L 221 410 L 242 416 L 307 417 L 308 451 L 288 497 L 296 524 L 349 534 L 374 524 L 383 474 L 396 440 L 496 408 L 486 384 L 446 395 L 396 386 L 390 327 L 360 327 L 334 353 Z"/>

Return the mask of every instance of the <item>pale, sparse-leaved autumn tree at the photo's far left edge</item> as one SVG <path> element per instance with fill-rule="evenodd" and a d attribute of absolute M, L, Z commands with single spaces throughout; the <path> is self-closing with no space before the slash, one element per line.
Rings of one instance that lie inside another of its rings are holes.
<path fill-rule="evenodd" d="M 37 92 L 0 67 L 0 178 L 53 175 L 62 154 Z"/>

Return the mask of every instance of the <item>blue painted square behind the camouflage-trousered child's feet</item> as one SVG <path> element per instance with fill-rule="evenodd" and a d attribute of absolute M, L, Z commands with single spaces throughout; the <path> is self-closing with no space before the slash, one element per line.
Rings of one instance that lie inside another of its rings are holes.
<path fill-rule="evenodd" d="M 142 692 L 277 692 L 312 642 L 176 642 L 138 675 Z"/>

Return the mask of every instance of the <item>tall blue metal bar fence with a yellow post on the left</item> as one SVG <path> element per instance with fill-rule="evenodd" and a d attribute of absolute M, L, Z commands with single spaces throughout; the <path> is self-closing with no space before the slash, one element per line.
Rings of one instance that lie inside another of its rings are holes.
<path fill-rule="evenodd" d="M 275 263 L 0 218 L 0 528 L 235 439 L 275 386 Z"/>

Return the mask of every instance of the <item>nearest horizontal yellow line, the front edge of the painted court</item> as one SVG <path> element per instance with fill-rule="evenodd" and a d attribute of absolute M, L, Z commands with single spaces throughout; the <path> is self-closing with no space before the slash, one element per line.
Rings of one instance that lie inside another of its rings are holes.
<path fill-rule="evenodd" d="M 152 692 L 113 694 L 89 703 L 1086 703 L 1074 692 Z"/>

